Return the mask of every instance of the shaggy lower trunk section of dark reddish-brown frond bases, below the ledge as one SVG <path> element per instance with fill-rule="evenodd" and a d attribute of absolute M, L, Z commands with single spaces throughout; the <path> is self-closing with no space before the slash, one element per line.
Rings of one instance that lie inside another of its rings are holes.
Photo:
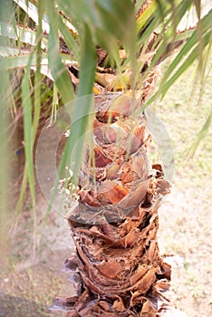
<path fill-rule="evenodd" d="M 54 305 L 68 316 L 153 317 L 164 312 L 170 266 L 159 256 L 156 241 L 159 202 L 157 197 L 150 207 L 136 207 L 119 225 L 88 226 L 72 216 L 76 254 L 64 270 L 77 295 L 56 299 Z"/>

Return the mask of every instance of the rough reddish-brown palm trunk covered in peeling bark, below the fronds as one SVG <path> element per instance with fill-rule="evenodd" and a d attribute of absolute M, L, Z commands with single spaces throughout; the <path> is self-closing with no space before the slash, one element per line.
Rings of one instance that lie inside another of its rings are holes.
<path fill-rule="evenodd" d="M 64 264 L 76 296 L 57 298 L 54 308 L 68 316 L 159 316 L 170 266 L 159 255 L 158 208 L 169 184 L 159 165 L 149 165 L 145 118 L 130 118 L 140 102 L 121 96 L 96 104 L 95 167 L 88 150 L 69 217 L 76 252 Z"/>

